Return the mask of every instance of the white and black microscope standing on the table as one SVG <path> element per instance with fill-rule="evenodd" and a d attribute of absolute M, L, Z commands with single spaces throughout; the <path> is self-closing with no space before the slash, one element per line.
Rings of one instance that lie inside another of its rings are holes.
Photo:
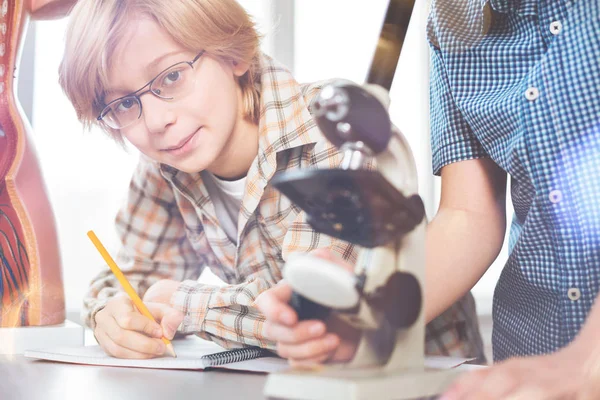
<path fill-rule="evenodd" d="M 424 366 L 425 208 L 412 152 L 387 111 L 414 3 L 390 1 L 367 85 L 334 81 L 312 104 L 341 165 L 273 180 L 313 229 L 360 248 L 354 273 L 311 255 L 290 259 L 283 276 L 292 307 L 299 319 L 339 318 L 361 339 L 347 363 L 270 375 L 268 397 L 416 399 L 440 394 L 457 376 Z"/>

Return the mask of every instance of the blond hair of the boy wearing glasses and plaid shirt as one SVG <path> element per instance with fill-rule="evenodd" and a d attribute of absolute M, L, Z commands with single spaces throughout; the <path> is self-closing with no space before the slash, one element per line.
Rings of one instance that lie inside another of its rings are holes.
<path fill-rule="evenodd" d="M 108 71 L 128 23 L 153 18 L 180 45 L 223 61 L 249 64 L 239 78 L 244 117 L 260 114 L 260 35 L 235 0 L 79 0 L 71 12 L 59 68 L 60 85 L 86 126 L 104 107 Z M 105 130 L 120 139 L 118 131 Z"/>

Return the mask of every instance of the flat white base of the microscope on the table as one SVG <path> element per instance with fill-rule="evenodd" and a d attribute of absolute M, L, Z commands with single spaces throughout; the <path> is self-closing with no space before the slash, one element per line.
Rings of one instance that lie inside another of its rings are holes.
<path fill-rule="evenodd" d="M 408 400 L 441 394 L 460 371 L 412 370 L 384 372 L 381 368 L 298 371 L 269 375 L 265 396 L 302 400 Z"/>

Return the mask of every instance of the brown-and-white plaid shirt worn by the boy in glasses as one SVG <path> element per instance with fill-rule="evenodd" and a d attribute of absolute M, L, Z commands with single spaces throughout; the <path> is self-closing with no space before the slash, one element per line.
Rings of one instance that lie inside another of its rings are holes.
<path fill-rule="evenodd" d="M 264 317 L 254 306 L 262 291 L 281 280 L 292 253 L 330 248 L 349 262 L 357 249 L 315 232 L 305 214 L 275 190 L 275 173 L 297 168 L 335 168 L 340 154 L 311 117 L 311 99 L 322 84 L 299 85 L 273 60 L 263 59 L 262 110 L 258 156 L 247 175 L 232 242 L 219 226 L 201 174 L 188 174 L 141 159 L 126 206 L 117 216 L 123 242 L 118 255 L 123 272 L 140 295 L 161 279 L 183 281 L 171 299 L 185 314 L 183 333 L 195 333 L 225 347 L 274 348 L 265 339 Z M 203 268 L 227 283 L 198 283 Z M 103 272 L 85 300 L 88 323 L 107 298 L 120 290 Z M 475 355 L 480 340 L 472 299 L 449 310 L 432 324 L 429 347 L 436 354 Z M 475 321 L 475 323 L 474 323 Z"/>

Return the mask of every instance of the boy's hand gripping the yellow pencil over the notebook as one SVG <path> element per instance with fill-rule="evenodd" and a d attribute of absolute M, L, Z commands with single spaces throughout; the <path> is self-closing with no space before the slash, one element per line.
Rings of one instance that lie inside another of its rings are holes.
<path fill-rule="evenodd" d="M 161 338 L 173 338 L 183 314 L 166 304 L 144 304 L 157 322 L 142 315 L 125 294 L 110 299 L 96 314 L 94 336 L 107 354 L 137 359 L 164 354 L 166 346 Z"/>

